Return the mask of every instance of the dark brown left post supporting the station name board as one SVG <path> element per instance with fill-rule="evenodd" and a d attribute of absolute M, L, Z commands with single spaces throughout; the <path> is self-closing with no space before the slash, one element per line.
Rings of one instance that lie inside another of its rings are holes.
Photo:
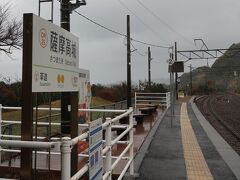
<path fill-rule="evenodd" d="M 33 140 L 33 93 L 32 93 L 32 39 L 33 16 L 23 16 L 23 68 L 22 68 L 22 113 L 21 140 Z M 32 179 L 32 149 L 21 148 L 21 180 Z"/>

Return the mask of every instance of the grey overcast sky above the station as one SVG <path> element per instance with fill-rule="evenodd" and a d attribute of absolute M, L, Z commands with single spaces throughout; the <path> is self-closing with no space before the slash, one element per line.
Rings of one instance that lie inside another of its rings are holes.
<path fill-rule="evenodd" d="M 202 38 L 208 48 L 227 48 L 240 42 L 239 0 L 86 1 L 87 5 L 78 8 L 78 12 L 123 34 L 126 34 L 126 15 L 129 14 L 131 37 L 151 44 L 173 46 L 176 41 L 178 50 L 190 50 L 201 46 L 194 45 L 195 38 Z M 1 0 L 0 4 L 5 2 L 9 0 Z M 38 0 L 11 0 L 10 3 L 13 17 L 21 19 L 23 13 L 29 12 L 38 14 Z M 48 6 L 42 6 L 42 9 L 47 18 L 50 9 Z M 54 0 L 54 23 L 57 25 L 59 9 L 59 2 Z M 92 83 L 126 81 L 126 39 L 96 26 L 75 12 L 71 15 L 71 32 L 79 37 L 79 65 L 90 70 Z M 138 82 L 148 78 L 148 46 L 136 42 L 132 44 L 138 51 L 132 53 L 132 80 Z M 151 51 L 152 79 L 168 78 L 166 60 L 169 50 L 151 47 Z M 183 59 L 181 56 L 178 58 Z M 210 65 L 213 62 L 209 60 Z M 21 79 L 21 63 L 21 51 L 15 51 L 12 59 L 0 54 L 0 74 Z M 207 64 L 206 60 L 189 61 L 185 64 L 186 72 L 190 63 L 193 67 Z"/>

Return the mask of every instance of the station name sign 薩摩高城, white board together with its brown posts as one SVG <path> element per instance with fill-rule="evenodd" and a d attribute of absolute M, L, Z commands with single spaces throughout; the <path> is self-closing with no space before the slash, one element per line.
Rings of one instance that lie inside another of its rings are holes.
<path fill-rule="evenodd" d="M 21 140 L 32 141 L 33 93 L 78 91 L 79 41 L 70 32 L 36 16 L 24 14 Z M 76 104 L 76 106 L 75 106 Z M 77 123 L 78 98 L 68 106 Z M 73 106 L 74 105 L 74 106 Z M 71 123 L 71 135 L 77 125 Z M 32 179 L 32 149 L 21 149 L 21 179 Z"/>

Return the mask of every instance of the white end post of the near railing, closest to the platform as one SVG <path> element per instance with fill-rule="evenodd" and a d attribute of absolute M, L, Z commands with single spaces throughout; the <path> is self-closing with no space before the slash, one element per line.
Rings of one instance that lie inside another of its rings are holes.
<path fill-rule="evenodd" d="M 129 126 L 131 127 L 131 130 L 129 132 L 129 143 L 132 143 L 132 146 L 130 148 L 130 159 L 132 160 L 132 163 L 130 164 L 130 175 L 134 175 L 134 162 L 133 162 L 133 108 L 130 107 L 130 110 L 132 112 L 129 114 Z"/>

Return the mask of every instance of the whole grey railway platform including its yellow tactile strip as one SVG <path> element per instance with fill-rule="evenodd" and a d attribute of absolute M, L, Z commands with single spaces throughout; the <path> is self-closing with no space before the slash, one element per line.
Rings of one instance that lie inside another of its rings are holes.
<path fill-rule="evenodd" d="M 240 156 L 192 99 L 179 99 L 172 124 L 171 118 L 168 109 L 148 134 L 135 156 L 134 179 L 240 180 Z"/>

